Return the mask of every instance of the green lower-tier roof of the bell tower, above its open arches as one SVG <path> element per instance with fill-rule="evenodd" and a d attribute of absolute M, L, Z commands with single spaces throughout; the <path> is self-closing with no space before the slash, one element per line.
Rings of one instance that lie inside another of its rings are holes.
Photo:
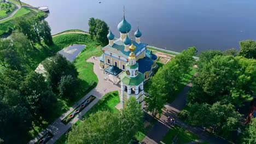
<path fill-rule="evenodd" d="M 121 82 L 127 86 L 138 86 L 144 81 L 144 75 L 142 73 L 138 73 L 136 77 L 129 77 L 126 73 L 122 73 L 120 77 Z"/>

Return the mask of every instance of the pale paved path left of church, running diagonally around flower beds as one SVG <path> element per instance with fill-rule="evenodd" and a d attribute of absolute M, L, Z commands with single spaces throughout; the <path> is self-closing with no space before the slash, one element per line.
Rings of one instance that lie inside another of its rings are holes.
<path fill-rule="evenodd" d="M 113 85 L 113 83 L 109 83 L 106 80 L 104 80 L 104 74 L 103 71 L 100 70 L 100 66 L 98 63 L 98 57 L 95 57 L 93 59 L 92 57 L 87 60 L 87 62 L 94 62 L 94 73 L 98 77 L 98 84 L 97 86 L 91 90 L 88 94 L 86 94 L 82 99 L 80 99 L 75 105 L 73 105 L 69 111 L 66 113 L 63 113 L 62 116 L 57 118 L 55 122 L 51 123 L 44 131 L 42 131 L 35 139 L 31 140 L 28 143 L 35 143 L 37 142 L 40 137 L 42 137 L 47 131 L 50 131 L 51 134 L 53 134 L 53 138 L 50 139 L 47 143 L 54 143 L 57 139 L 59 139 L 63 134 L 66 133 L 66 131 L 71 128 L 72 124 L 77 122 L 79 119 L 82 118 L 82 116 L 91 109 L 92 106 L 94 106 L 98 100 L 100 100 L 103 95 L 109 92 L 118 91 L 120 88 L 116 85 Z M 107 89 L 105 91 L 105 89 Z M 92 101 L 85 109 L 80 112 L 77 116 L 75 116 L 71 122 L 69 122 L 67 125 L 63 124 L 61 122 L 61 119 L 65 118 L 70 112 L 72 112 L 77 106 L 83 103 L 84 100 L 90 97 L 90 95 L 94 95 L 96 99 Z"/>

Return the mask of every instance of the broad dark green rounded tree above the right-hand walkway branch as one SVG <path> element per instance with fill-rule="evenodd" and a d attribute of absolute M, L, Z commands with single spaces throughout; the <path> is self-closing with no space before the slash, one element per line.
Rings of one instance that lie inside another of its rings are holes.
<path fill-rule="evenodd" d="M 223 136 L 229 136 L 231 131 L 240 127 L 241 114 L 235 106 L 223 105 L 219 102 L 213 105 L 194 104 L 189 111 L 189 120 L 201 127 L 213 127 L 213 131 Z"/>

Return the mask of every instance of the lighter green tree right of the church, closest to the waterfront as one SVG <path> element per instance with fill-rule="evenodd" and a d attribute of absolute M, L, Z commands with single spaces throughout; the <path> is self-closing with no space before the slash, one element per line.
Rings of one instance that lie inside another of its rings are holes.
<path fill-rule="evenodd" d="M 179 65 L 179 69 L 183 73 L 183 77 L 185 74 L 188 74 L 195 59 L 193 56 L 196 54 L 197 50 L 195 47 L 189 47 L 188 50 L 182 51 L 180 55 L 177 55 L 174 59 Z"/>

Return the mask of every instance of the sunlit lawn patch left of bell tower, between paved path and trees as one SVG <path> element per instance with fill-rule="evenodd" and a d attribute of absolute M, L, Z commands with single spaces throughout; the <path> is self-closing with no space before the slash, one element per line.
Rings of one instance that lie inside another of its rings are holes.
<path fill-rule="evenodd" d="M 118 112 L 118 109 L 115 106 L 120 103 L 118 91 L 107 93 L 103 96 L 102 99 L 98 101 L 88 112 L 85 113 L 83 118 L 88 118 L 92 113 L 97 111 L 110 111 L 113 113 Z"/>

